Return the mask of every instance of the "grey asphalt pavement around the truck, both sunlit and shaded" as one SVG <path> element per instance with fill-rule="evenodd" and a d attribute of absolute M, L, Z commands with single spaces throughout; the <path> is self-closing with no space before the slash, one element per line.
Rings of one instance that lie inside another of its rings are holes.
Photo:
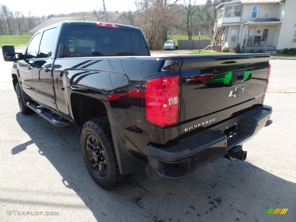
<path fill-rule="evenodd" d="M 19 112 L 11 63 L 0 65 L 0 221 L 295 221 L 295 60 L 271 60 L 274 123 L 244 144 L 246 161 L 220 159 L 179 181 L 142 168 L 111 191 L 89 176 L 75 126 Z"/>

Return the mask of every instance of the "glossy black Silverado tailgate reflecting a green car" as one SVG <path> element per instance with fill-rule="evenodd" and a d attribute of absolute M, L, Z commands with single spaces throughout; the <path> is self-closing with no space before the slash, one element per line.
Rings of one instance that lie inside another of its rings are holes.
<path fill-rule="evenodd" d="M 182 56 L 179 135 L 263 103 L 269 54 Z"/>

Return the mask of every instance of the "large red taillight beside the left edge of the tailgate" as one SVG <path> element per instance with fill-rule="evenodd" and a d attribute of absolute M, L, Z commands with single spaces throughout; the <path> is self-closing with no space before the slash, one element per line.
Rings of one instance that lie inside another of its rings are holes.
<path fill-rule="evenodd" d="M 178 123 L 179 77 L 170 76 L 147 81 L 145 91 L 147 120 L 159 126 Z"/>

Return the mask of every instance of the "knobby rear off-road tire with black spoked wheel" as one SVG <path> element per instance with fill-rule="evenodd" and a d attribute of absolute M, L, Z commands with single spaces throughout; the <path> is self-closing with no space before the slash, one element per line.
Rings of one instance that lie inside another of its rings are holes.
<path fill-rule="evenodd" d="M 89 120 L 83 125 L 81 149 L 86 168 L 96 184 L 109 190 L 121 183 L 124 178 L 119 172 L 107 118 Z"/>

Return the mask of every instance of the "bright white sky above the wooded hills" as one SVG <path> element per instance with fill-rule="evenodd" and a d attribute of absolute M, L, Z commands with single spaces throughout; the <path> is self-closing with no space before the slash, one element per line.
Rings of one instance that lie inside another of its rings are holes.
<path fill-rule="evenodd" d="M 107 11 L 135 11 L 135 0 L 104 0 L 105 7 Z M 173 0 L 170 0 L 173 2 Z M 188 1 L 188 0 L 185 0 Z M 192 0 L 194 1 L 194 0 Z M 206 0 L 196 0 L 198 4 L 205 4 Z M 42 3 L 41 3 L 42 2 Z M 76 3 L 77 2 L 77 3 Z M 79 3 L 78 3 L 79 2 Z M 184 2 L 184 0 L 179 0 L 179 2 Z M 32 16 L 42 15 L 59 15 L 69 14 L 71 12 L 87 12 L 93 9 L 99 10 L 103 7 L 103 0 L 83 0 L 83 1 L 70 1 L 70 0 L 0 0 L 0 5 L 6 5 L 10 11 L 20 11 L 25 16 L 28 16 L 28 11 L 31 11 Z"/>

